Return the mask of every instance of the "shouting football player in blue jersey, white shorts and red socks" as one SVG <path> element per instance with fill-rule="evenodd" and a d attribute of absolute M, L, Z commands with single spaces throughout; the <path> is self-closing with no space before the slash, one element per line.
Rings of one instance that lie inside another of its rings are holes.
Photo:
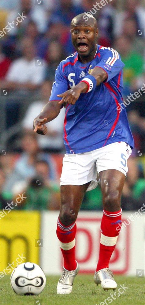
<path fill-rule="evenodd" d="M 126 111 L 120 111 L 124 67 L 120 55 L 112 48 L 96 44 L 97 21 L 91 15 L 80 14 L 73 18 L 71 35 L 76 52 L 59 64 L 50 101 L 34 119 L 33 126 L 35 132 L 45 135 L 45 123 L 56 118 L 63 105 L 66 106 L 66 154 L 57 221 L 64 266 L 58 294 L 71 293 L 79 271 L 75 260 L 76 218 L 85 192 L 98 184 L 97 172 L 103 216 L 94 281 L 104 290 L 117 287 L 109 261 L 119 235 L 116 228 L 121 223 L 121 192 L 128 171 L 127 159 L 134 145 Z"/>

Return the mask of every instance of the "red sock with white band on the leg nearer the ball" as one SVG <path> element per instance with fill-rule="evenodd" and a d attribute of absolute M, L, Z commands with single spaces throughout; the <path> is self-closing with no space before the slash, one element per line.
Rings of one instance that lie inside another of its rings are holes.
<path fill-rule="evenodd" d="M 64 258 L 65 269 L 71 271 L 76 269 L 75 260 L 75 236 L 76 236 L 76 222 L 69 226 L 65 226 L 58 218 L 57 221 L 57 237 L 60 241 L 61 252 Z"/>

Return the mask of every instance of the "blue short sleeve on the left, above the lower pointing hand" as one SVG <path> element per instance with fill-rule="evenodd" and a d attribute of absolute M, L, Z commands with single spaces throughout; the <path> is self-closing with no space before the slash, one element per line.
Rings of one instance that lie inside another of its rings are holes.
<path fill-rule="evenodd" d="M 50 101 L 61 100 L 61 97 L 58 97 L 57 95 L 69 89 L 67 77 L 63 74 L 61 66 L 62 65 L 60 64 L 55 72 L 55 81 L 52 86 Z"/>

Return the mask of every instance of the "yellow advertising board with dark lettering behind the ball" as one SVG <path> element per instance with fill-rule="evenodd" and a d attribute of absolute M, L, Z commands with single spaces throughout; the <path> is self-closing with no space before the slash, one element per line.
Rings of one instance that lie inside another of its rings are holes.
<path fill-rule="evenodd" d="M 0 219 L 0 277 L 26 261 L 39 264 L 40 213 L 11 211 Z"/>

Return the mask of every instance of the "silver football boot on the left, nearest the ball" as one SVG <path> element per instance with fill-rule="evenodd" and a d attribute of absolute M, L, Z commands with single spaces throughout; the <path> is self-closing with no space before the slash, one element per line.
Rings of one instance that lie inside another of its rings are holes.
<path fill-rule="evenodd" d="M 69 294 L 72 292 L 72 285 L 79 272 L 79 265 L 76 261 L 76 270 L 68 271 L 63 267 L 62 275 L 58 281 L 57 294 Z"/>

